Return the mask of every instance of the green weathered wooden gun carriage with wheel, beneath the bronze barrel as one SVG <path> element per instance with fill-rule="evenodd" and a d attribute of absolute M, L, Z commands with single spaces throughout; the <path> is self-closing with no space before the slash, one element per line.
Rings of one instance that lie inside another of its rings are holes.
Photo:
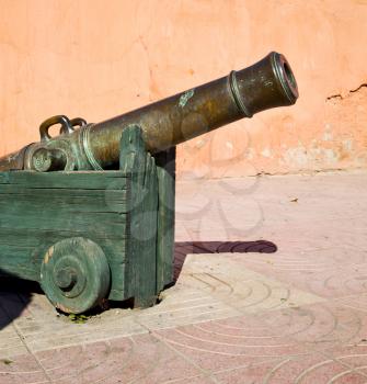
<path fill-rule="evenodd" d="M 82 313 L 104 298 L 150 306 L 172 281 L 174 148 L 152 157 L 124 129 L 119 170 L 0 172 L 0 266 Z"/>

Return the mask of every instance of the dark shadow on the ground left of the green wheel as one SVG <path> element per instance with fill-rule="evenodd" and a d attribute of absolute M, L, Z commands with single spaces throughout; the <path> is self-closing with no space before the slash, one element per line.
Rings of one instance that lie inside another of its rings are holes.
<path fill-rule="evenodd" d="M 21 280 L 0 269 L 0 330 L 22 314 L 33 292 L 41 292 L 36 282 Z"/>

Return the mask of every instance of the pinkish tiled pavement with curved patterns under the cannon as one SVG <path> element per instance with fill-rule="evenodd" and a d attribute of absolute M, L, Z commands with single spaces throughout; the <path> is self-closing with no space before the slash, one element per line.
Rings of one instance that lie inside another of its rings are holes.
<path fill-rule="evenodd" d="M 365 172 L 180 182 L 163 301 L 72 324 L 2 286 L 0 384 L 367 383 L 366 187 Z"/>

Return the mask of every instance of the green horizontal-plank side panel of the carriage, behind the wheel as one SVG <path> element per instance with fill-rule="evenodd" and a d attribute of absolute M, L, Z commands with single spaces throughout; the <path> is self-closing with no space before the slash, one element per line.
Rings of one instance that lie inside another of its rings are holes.
<path fill-rule="evenodd" d="M 106 255 L 110 297 L 126 298 L 126 185 L 121 171 L 0 173 L 1 269 L 39 281 L 53 244 L 85 237 Z"/>

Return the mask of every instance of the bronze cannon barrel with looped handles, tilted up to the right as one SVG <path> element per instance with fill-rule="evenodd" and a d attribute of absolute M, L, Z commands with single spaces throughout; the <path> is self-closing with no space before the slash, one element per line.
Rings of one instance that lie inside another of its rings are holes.
<path fill-rule="evenodd" d="M 0 170 L 111 168 L 118 163 L 122 132 L 130 124 L 141 127 L 147 149 L 159 153 L 297 98 L 288 61 L 273 52 L 251 67 L 98 124 L 54 116 L 41 125 L 41 142 L 1 158 Z M 61 126 L 57 137 L 48 135 L 54 124 Z"/>

